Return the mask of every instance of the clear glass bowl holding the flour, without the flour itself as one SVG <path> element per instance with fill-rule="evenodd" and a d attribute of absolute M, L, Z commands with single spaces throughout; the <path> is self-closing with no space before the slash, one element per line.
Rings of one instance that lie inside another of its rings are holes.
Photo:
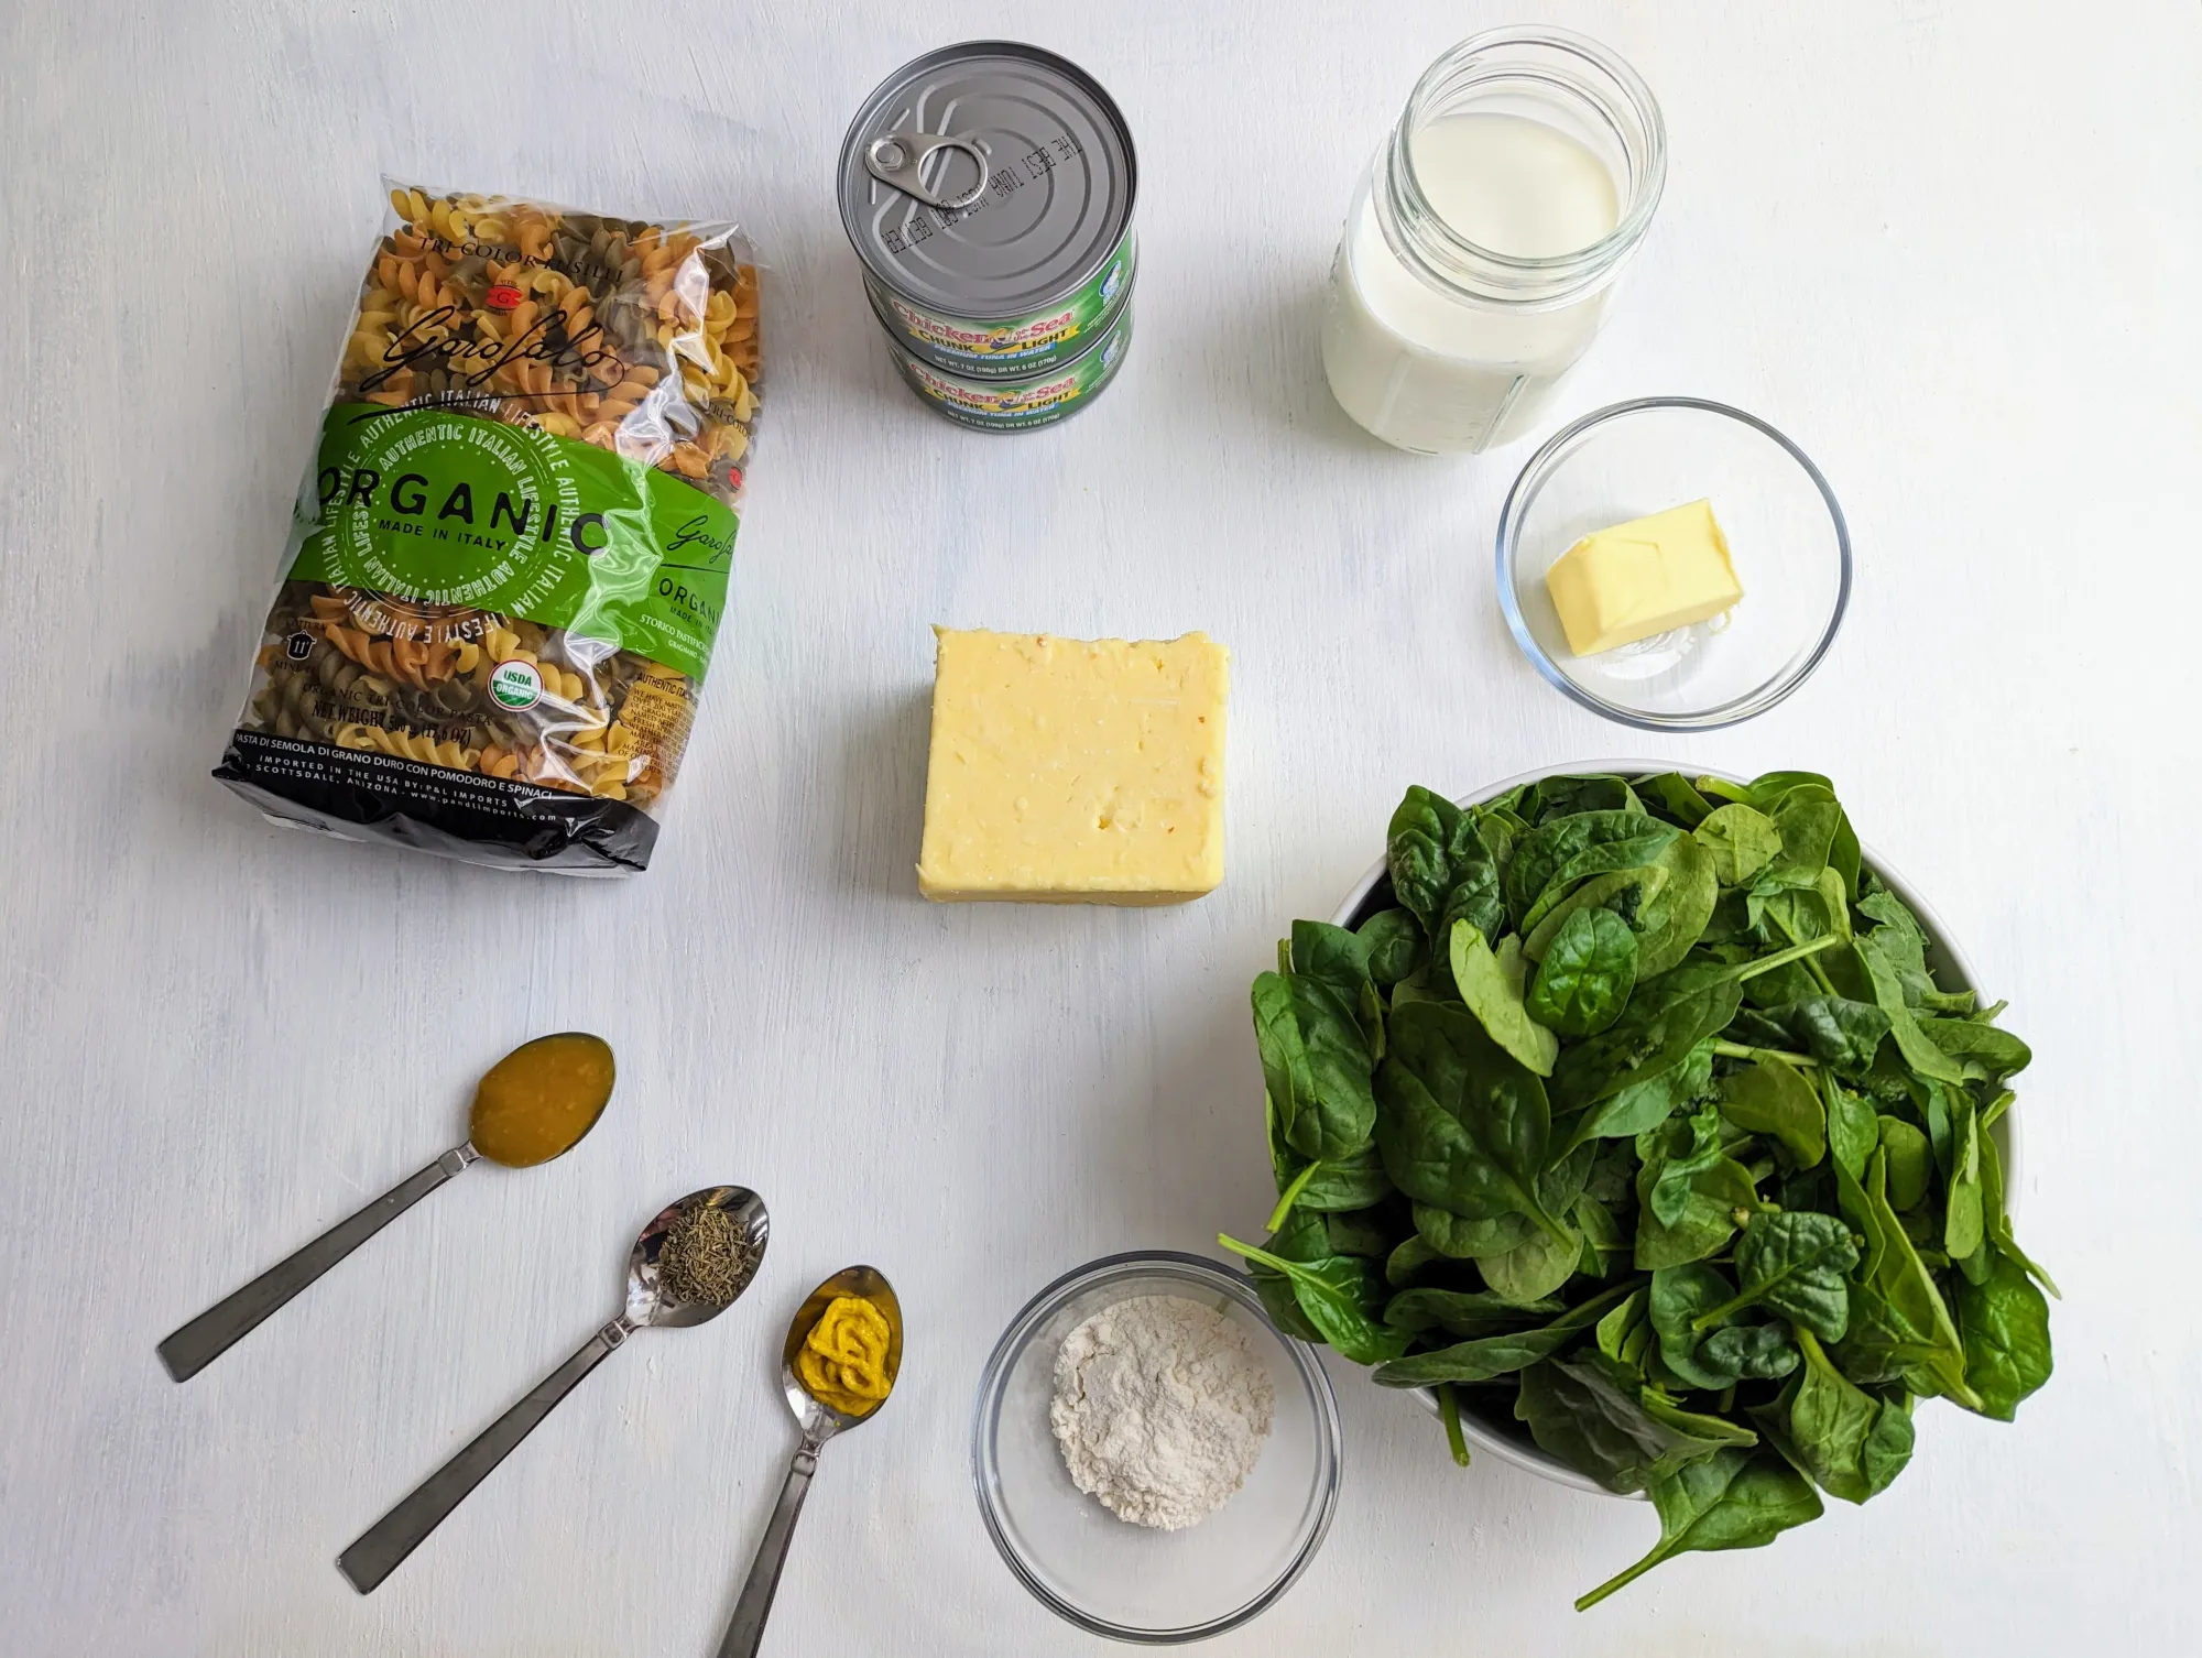
<path fill-rule="evenodd" d="M 1246 1484 L 1176 1532 L 1127 1524 L 1070 1484 L 1048 1427 L 1064 1337 L 1132 1295 L 1216 1308 L 1253 1339 L 1277 1389 Z M 1277 1332 L 1242 1273 L 1171 1251 L 1108 1255 L 1035 1295 L 986 1361 L 971 1425 L 978 1508 L 1017 1581 L 1081 1629 L 1152 1647 L 1235 1629 L 1293 1585 L 1339 1506 L 1339 1407 L 1315 1350 Z"/>

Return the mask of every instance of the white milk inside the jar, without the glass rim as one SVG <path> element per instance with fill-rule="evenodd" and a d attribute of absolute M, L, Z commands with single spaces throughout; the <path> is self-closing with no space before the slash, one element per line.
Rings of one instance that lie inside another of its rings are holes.
<path fill-rule="evenodd" d="M 1621 220 L 1614 176 L 1583 143 L 1522 114 L 1449 114 L 1407 139 L 1416 183 L 1458 236 L 1511 258 L 1557 258 Z M 1480 302 L 1411 271 L 1385 242 L 1385 156 L 1345 220 L 1323 317 L 1339 405 L 1400 449 L 1475 451 L 1519 436 L 1590 348 L 1607 286 L 1557 308 Z"/>

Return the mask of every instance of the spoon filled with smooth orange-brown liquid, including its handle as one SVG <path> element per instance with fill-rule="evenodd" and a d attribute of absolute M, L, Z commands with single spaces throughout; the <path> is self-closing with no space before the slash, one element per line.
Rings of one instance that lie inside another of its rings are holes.
<path fill-rule="evenodd" d="M 597 1127 L 612 1099 L 612 1048 L 603 1037 L 564 1030 L 513 1048 L 473 1090 L 467 1143 L 401 1180 L 355 1215 L 339 1220 L 291 1259 L 216 1301 L 161 1343 L 174 1381 L 189 1381 L 255 1330 L 275 1308 L 313 1284 L 427 1193 L 482 1158 L 506 1169 L 548 1163 Z"/>

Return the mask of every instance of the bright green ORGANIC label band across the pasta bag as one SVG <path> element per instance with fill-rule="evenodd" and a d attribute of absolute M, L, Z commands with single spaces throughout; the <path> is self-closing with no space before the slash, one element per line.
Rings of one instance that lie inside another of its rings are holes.
<path fill-rule="evenodd" d="M 590 443 L 339 403 L 299 495 L 291 579 L 500 610 L 702 680 L 738 526 L 700 489 Z"/>

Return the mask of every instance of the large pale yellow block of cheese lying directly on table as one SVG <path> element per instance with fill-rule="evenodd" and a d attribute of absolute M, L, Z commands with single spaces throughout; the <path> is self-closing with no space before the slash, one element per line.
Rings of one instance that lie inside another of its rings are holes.
<path fill-rule="evenodd" d="M 1224 879 L 1231 652 L 936 628 L 927 898 L 1185 903 Z"/>

